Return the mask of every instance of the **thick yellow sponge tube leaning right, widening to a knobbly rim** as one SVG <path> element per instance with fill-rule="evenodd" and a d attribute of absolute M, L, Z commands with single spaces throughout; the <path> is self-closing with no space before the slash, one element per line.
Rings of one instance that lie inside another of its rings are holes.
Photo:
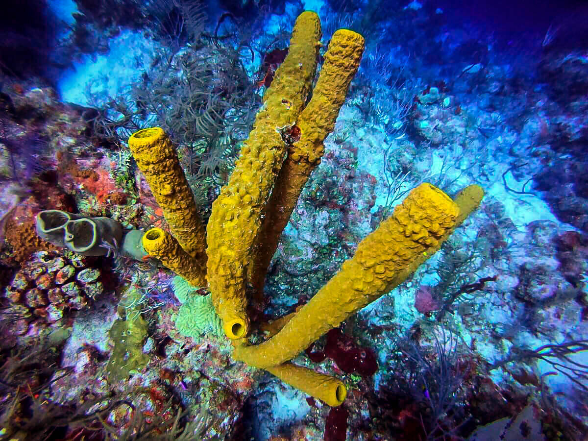
<path fill-rule="evenodd" d="M 455 227 L 459 212 L 445 193 L 430 184 L 420 185 L 359 243 L 353 258 L 343 263 L 280 332 L 257 346 L 237 346 L 233 357 L 263 369 L 292 359 L 401 283 L 407 267 L 439 248 L 440 240 Z"/>

